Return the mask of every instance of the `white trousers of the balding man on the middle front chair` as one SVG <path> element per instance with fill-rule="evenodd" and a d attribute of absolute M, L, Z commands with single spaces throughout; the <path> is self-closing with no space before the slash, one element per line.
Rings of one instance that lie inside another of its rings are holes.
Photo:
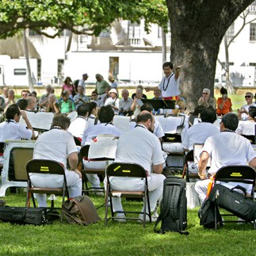
<path fill-rule="evenodd" d="M 151 174 L 147 177 L 149 201 L 151 204 L 151 212 L 155 211 L 156 203 L 162 197 L 163 180 L 166 177 L 162 174 Z M 104 181 L 106 185 L 106 179 Z M 145 181 L 141 178 L 110 178 L 111 189 L 118 189 L 124 191 L 141 190 L 143 191 Z M 123 211 L 123 206 L 120 197 L 113 197 L 114 212 Z M 143 207 L 147 207 L 143 205 Z M 143 210 L 142 210 L 143 212 Z"/>

